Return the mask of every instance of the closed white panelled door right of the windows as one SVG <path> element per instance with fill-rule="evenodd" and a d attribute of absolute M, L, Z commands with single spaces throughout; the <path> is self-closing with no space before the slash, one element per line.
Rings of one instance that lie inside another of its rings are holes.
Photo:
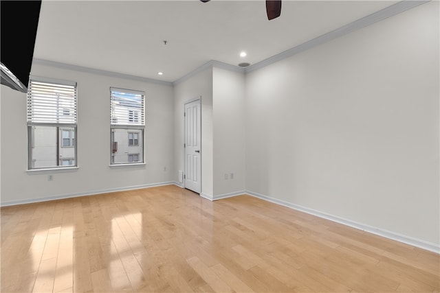
<path fill-rule="evenodd" d="M 185 104 L 185 188 L 201 191 L 201 106 L 200 99 Z"/>

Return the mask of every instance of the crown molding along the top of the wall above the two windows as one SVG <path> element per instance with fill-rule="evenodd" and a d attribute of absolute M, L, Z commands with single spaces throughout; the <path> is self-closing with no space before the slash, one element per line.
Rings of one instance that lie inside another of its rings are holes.
<path fill-rule="evenodd" d="M 113 71 L 105 71 L 105 70 L 101 70 L 101 69 L 94 69 L 94 68 L 77 66 L 77 65 L 69 65 L 69 64 L 65 64 L 65 63 L 61 63 L 61 62 L 55 62 L 55 61 L 43 60 L 43 59 L 37 59 L 37 58 L 34 58 L 34 60 L 32 60 L 32 64 L 52 66 L 52 67 L 58 67 L 61 69 L 82 71 L 82 72 L 86 72 L 86 73 L 94 73 L 94 74 L 99 74 L 99 75 L 107 75 L 107 76 L 111 76 L 113 78 L 124 78 L 126 80 L 137 80 L 137 81 L 141 81 L 141 82 L 149 82 L 151 84 L 164 84 L 167 86 L 173 85 L 173 82 L 164 82 L 163 80 L 153 80 L 152 78 L 141 78 L 140 76 L 135 76 L 135 75 L 129 75 L 129 74 L 118 73 L 118 72 L 113 72 Z"/>

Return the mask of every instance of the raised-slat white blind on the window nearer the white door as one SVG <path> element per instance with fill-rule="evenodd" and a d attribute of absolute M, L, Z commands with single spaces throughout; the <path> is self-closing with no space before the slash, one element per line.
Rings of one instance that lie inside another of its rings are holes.
<path fill-rule="evenodd" d="M 110 88 L 111 125 L 144 126 L 145 93 L 127 89 Z"/>

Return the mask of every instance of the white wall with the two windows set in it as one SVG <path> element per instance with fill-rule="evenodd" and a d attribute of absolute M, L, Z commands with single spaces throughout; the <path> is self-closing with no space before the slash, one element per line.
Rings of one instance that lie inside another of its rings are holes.
<path fill-rule="evenodd" d="M 78 82 L 79 168 L 26 172 L 26 95 L 1 86 L 1 204 L 172 182 L 172 86 L 36 64 L 32 75 Z M 146 93 L 146 165 L 109 167 L 110 86 Z M 54 180 L 48 181 L 48 174 Z"/>

